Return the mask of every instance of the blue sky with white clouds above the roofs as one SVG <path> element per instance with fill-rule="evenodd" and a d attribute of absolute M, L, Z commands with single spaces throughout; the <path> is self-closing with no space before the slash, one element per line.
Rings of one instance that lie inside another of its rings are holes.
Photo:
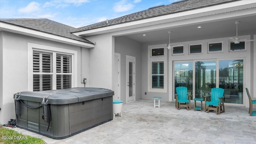
<path fill-rule="evenodd" d="M 48 18 L 75 28 L 179 0 L 0 0 L 0 18 Z"/>

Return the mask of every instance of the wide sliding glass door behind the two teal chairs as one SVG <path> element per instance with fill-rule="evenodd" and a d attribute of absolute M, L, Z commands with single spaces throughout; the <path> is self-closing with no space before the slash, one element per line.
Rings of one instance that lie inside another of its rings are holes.
<path fill-rule="evenodd" d="M 173 74 L 174 94 L 176 87 L 186 86 L 192 99 L 204 98 L 210 95 L 212 88 L 223 88 L 225 103 L 243 104 L 242 59 L 174 62 Z"/>

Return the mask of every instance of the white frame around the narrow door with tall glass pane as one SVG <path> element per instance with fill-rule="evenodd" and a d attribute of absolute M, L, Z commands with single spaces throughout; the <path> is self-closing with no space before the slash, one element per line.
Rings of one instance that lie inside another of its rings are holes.
<path fill-rule="evenodd" d="M 129 97 L 129 62 L 133 62 L 133 96 Z M 136 58 L 134 56 L 126 55 L 126 103 L 136 100 Z"/>

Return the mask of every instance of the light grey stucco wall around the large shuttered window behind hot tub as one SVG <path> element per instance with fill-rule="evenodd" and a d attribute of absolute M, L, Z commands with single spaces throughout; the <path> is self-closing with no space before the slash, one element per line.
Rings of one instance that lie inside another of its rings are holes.
<path fill-rule="evenodd" d="M 89 50 L 82 48 L 82 64 L 81 64 L 81 48 L 50 40 L 42 40 L 21 34 L 10 32 L 0 32 L 0 124 L 6 124 L 8 120 L 15 118 L 13 94 L 28 90 L 28 42 L 34 44 L 42 44 L 45 46 L 54 46 L 77 51 L 77 86 L 83 87 L 81 84 L 82 77 L 89 77 Z M 81 74 L 81 65 L 83 71 Z M 87 80 L 86 87 L 90 81 Z"/>

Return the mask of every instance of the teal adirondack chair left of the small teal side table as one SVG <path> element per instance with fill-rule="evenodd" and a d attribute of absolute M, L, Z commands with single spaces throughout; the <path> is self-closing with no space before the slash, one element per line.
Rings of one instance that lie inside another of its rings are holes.
<path fill-rule="evenodd" d="M 190 96 L 188 94 L 188 88 L 184 86 L 176 87 L 176 108 L 180 110 L 180 107 L 186 107 L 190 110 Z"/>

